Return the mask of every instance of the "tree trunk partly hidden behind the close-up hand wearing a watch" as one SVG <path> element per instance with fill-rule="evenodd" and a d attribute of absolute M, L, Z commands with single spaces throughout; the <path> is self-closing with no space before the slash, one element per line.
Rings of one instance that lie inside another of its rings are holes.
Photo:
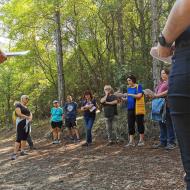
<path fill-rule="evenodd" d="M 159 20 L 158 20 L 158 0 L 151 0 L 151 14 L 152 14 L 152 44 L 153 46 L 157 45 L 157 37 L 159 35 Z M 161 65 L 159 61 L 153 59 L 152 62 L 152 74 L 154 87 L 158 84 L 160 80 L 160 70 Z"/>

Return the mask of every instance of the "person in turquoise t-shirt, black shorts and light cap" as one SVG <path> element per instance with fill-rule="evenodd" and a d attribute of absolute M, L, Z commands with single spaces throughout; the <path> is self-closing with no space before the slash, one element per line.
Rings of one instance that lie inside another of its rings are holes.
<path fill-rule="evenodd" d="M 61 128 L 63 125 L 63 109 L 59 107 L 57 100 L 53 101 L 51 108 L 51 127 L 53 130 L 53 144 L 60 144 Z"/>

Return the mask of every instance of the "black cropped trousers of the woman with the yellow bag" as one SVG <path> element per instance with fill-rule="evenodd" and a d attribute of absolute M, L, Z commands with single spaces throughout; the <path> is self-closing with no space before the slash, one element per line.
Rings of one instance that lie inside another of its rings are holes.
<path fill-rule="evenodd" d="M 135 110 L 128 110 L 127 118 L 129 135 L 135 134 L 135 122 L 137 123 L 138 132 L 144 134 L 144 115 L 135 115 Z"/>

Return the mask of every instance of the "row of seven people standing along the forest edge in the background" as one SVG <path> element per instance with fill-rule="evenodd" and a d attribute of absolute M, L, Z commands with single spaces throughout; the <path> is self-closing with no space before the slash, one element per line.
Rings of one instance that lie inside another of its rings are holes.
<path fill-rule="evenodd" d="M 168 69 L 161 71 L 161 80 L 155 89 L 153 95 L 146 95 L 148 99 L 165 98 L 167 100 L 168 92 Z M 107 130 L 108 143 L 113 145 L 119 142 L 118 135 L 118 103 L 122 101 L 127 114 L 128 120 L 128 134 L 129 142 L 125 147 L 135 147 L 135 123 L 137 124 L 137 131 L 139 133 L 139 141 L 137 146 L 144 146 L 144 115 L 145 115 L 145 95 L 141 84 L 137 84 L 136 77 L 129 75 L 126 77 L 127 89 L 122 92 L 114 92 L 111 85 L 104 86 L 104 95 L 100 99 L 100 104 L 103 107 L 105 126 Z M 26 155 L 24 147 L 26 141 L 31 139 L 30 123 L 32 121 L 32 113 L 27 108 L 29 97 L 27 95 L 21 96 L 21 102 L 15 105 L 16 114 L 16 142 L 14 153 L 11 159 L 16 159 L 16 154 L 21 149 L 21 155 Z M 77 112 L 83 112 L 84 123 L 86 129 L 86 142 L 82 146 L 90 146 L 92 144 L 92 127 L 96 118 L 96 111 L 98 109 L 95 98 L 90 91 L 84 93 L 80 108 L 78 104 L 73 101 L 72 96 L 68 95 L 66 102 L 60 106 L 59 101 L 53 101 L 51 108 L 51 132 L 53 134 L 53 144 L 61 143 L 61 129 L 63 123 L 68 130 L 68 136 L 75 142 L 80 142 L 80 135 L 77 128 Z M 175 132 L 171 121 L 170 110 L 166 101 L 166 119 L 160 121 L 160 143 L 153 146 L 153 148 L 173 149 L 176 146 Z M 30 141 L 29 141 L 30 142 Z M 32 141 L 31 141 L 32 142 Z M 33 144 L 33 143 L 32 143 Z"/>

